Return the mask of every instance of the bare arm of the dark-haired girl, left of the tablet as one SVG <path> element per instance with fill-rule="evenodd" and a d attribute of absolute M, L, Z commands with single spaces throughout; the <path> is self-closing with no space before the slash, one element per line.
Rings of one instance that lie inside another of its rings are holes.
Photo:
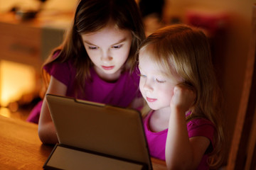
<path fill-rule="evenodd" d="M 65 96 L 66 91 L 67 86 L 65 86 L 54 77 L 50 77 L 50 84 L 48 86 L 46 94 L 57 94 Z M 43 99 L 43 105 L 41 108 L 40 118 L 38 122 L 38 135 L 40 140 L 44 144 L 55 144 L 58 142 L 56 130 L 53 125 L 53 120 L 50 117 L 50 111 L 48 109 L 46 98 Z"/>

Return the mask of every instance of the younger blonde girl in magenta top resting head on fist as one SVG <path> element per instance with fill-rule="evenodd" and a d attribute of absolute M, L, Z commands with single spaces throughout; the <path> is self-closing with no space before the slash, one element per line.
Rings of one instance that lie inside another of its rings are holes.
<path fill-rule="evenodd" d="M 223 127 L 206 35 L 185 25 L 149 35 L 139 50 L 139 89 L 149 111 L 144 129 L 151 157 L 168 169 L 209 169 L 221 163 Z"/>

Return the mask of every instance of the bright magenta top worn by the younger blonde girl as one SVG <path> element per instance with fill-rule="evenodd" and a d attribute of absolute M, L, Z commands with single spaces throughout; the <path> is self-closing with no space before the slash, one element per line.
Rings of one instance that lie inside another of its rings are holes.
<path fill-rule="evenodd" d="M 152 132 L 149 128 L 149 119 L 154 111 L 151 111 L 146 118 L 144 118 L 144 130 L 146 140 L 149 145 L 149 153 L 151 157 L 165 160 L 165 147 L 168 129 L 161 132 Z M 207 164 L 208 154 L 213 150 L 213 133 L 215 131 L 213 123 L 205 118 L 196 118 L 187 123 L 188 137 L 203 136 L 210 140 L 210 146 L 203 155 L 198 169 L 209 169 Z"/>

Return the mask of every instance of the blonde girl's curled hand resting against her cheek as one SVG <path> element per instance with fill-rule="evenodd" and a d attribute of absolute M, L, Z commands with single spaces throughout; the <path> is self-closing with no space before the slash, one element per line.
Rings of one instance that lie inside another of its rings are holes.
<path fill-rule="evenodd" d="M 191 88 L 186 85 L 176 85 L 170 107 L 186 113 L 193 106 L 195 99 L 196 94 Z"/>

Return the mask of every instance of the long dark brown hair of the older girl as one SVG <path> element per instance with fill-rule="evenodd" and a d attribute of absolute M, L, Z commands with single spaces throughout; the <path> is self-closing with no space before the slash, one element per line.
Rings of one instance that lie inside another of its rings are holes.
<path fill-rule="evenodd" d="M 53 60 L 53 54 L 51 54 L 45 64 L 71 60 L 77 69 L 75 89 L 82 89 L 82 86 L 85 86 L 85 80 L 90 79 L 92 62 L 82 43 L 81 35 L 101 30 L 110 22 L 117 28 L 130 30 L 132 33 L 129 57 L 124 65 L 124 69 L 132 72 L 137 64 L 135 54 L 139 44 L 145 38 L 141 13 L 134 0 L 81 0 L 65 40 L 60 47 L 53 50 L 53 53 L 59 50 L 58 56 Z M 44 69 L 43 80 L 47 87 L 49 75 Z"/>

